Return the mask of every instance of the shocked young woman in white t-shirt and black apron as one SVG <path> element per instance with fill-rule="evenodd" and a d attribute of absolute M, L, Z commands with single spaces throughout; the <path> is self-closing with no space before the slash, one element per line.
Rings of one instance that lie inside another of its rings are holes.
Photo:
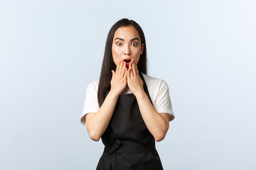
<path fill-rule="evenodd" d="M 166 82 L 147 74 L 146 42 L 133 20 L 108 33 L 99 81 L 87 87 L 81 123 L 105 145 L 97 170 L 162 170 L 155 141 L 174 119 Z"/>

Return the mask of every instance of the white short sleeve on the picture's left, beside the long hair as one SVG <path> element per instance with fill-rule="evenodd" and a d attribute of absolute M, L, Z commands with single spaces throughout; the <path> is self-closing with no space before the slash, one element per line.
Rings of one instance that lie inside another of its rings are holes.
<path fill-rule="evenodd" d="M 83 113 L 81 115 L 81 124 L 85 126 L 85 115 L 88 113 L 96 113 L 99 110 L 98 103 L 99 81 L 91 82 L 86 88 L 85 102 L 83 105 Z"/>

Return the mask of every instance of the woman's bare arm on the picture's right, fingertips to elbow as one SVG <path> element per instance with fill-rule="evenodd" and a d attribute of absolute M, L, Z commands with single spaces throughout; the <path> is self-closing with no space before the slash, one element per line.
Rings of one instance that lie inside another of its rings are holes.
<path fill-rule="evenodd" d="M 127 73 L 127 83 L 135 95 L 141 116 L 156 141 L 164 139 L 169 128 L 169 115 L 167 113 L 157 113 L 152 106 L 148 96 L 144 92 L 143 82 L 139 77 L 136 61 L 132 59 Z"/>

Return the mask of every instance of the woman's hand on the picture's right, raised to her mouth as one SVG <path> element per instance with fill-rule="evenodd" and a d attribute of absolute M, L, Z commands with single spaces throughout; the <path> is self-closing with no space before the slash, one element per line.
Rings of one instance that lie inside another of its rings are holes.
<path fill-rule="evenodd" d="M 143 81 L 139 76 L 136 60 L 133 58 L 129 63 L 129 69 L 127 72 L 127 84 L 130 88 L 130 91 L 132 91 L 133 95 L 135 96 L 144 92 Z"/>

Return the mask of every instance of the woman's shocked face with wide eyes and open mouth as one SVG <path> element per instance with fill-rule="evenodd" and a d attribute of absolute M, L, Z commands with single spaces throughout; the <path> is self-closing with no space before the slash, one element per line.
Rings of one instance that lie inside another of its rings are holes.
<path fill-rule="evenodd" d="M 112 43 L 112 56 L 116 66 L 123 59 L 128 67 L 132 58 L 137 64 L 143 49 L 144 44 L 141 44 L 139 32 L 133 26 L 122 26 L 117 29 Z"/>

